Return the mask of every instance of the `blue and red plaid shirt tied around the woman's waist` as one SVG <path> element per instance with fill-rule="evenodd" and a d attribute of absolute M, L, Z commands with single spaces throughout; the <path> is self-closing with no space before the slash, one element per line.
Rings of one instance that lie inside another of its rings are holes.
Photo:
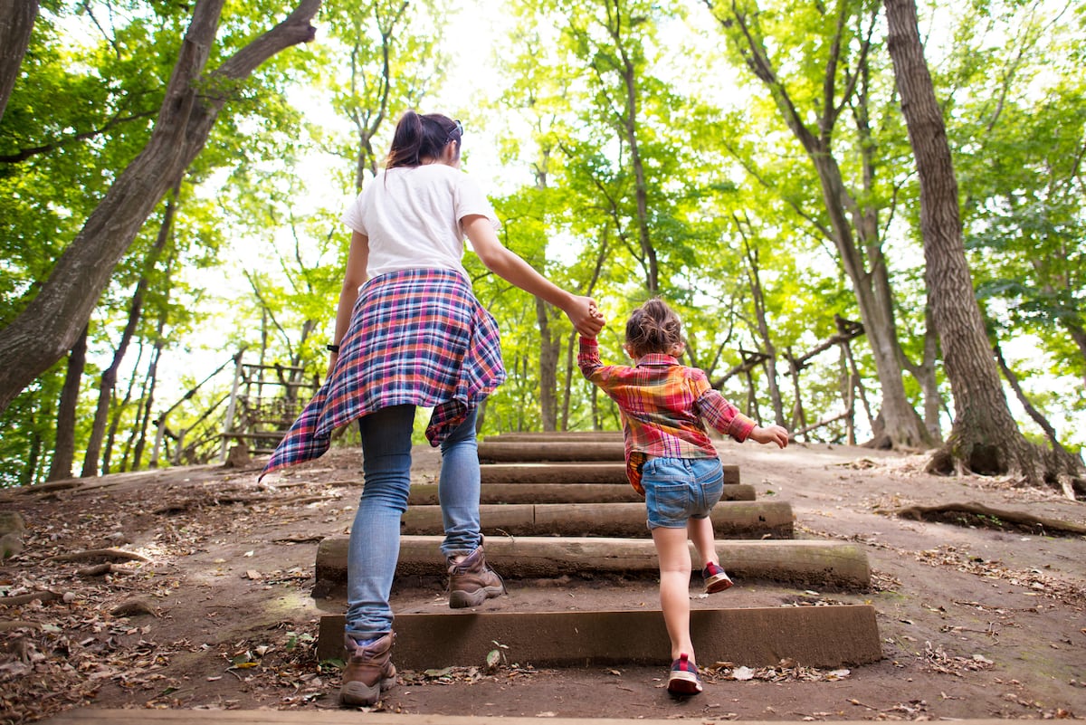
<path fill-rule="evenodd" d="M 261 475 L 324 455 L 337 428 L 394 405 L 433 407 L 426 437 L 440 445 L 504 381 L 497 323 L 462 275 L 375 277 L 358 294 L 331 377 Z"/>

